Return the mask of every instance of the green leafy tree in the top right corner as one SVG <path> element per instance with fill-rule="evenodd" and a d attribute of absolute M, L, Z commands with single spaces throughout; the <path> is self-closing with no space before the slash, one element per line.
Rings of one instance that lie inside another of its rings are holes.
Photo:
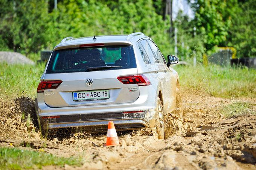
<path fill-rule="evenodd" d="M 256 3 L 240 2 L 235 9 L 227 43 L 237 49 L 238 57 L 256 57 Z"/>

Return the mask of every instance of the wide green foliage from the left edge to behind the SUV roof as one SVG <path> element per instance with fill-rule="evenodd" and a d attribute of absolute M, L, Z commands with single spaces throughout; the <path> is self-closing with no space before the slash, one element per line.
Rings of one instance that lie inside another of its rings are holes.
<path fill-rule="evenodd" d="M 10 8 L 13 7 L 13 8 Z M 167 21 L 155 12 L 152 0 L 63 0 L 48 12 L 46 1 L 0 1 L 0 48 L 22 53 L 52 49 L 67 36 L 75 38 L 144 32 L 169 54 Z"/>

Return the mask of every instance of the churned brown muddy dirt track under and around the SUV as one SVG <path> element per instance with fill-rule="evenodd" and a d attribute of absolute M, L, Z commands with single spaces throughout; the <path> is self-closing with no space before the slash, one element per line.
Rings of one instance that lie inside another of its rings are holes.
<path fill-rule="evenodd" d="M 256 114 L 225 119 L 219 111 L 235 100 L 186 95 L 184 116 L 167 116 L 167 139 L 158 140 L 155 129 L 118 132 L 121 144 L 111 148 L 102 147 L 106 133 L 42 139 L 33 121 L 26 122 L 31 99 L 0 101 L 0 146 L 84 158 L 81 167 L 44 169 L 256 169 Z M 253 103 L 255 113 L 256 99 L 239 100 Z"/>

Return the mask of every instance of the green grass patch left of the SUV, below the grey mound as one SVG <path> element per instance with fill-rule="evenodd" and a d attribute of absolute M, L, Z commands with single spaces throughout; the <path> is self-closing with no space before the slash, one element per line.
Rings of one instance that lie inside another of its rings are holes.
<path fill-rule="evenodd" d="M 0 92 L 4 96 L 35 98 L 45 63 L 37 65 L 8 65 L 0 63 Z"/>

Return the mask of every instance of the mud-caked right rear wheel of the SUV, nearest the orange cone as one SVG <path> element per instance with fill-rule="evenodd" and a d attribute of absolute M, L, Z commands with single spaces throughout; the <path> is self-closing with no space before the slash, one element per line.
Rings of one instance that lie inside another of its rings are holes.
<path fill-rule="evenodd" d="M 165 138 L 165 123 L 163 120 L 163 105 L 160 98 L 157 98 L 157 111 L 155 113 L 155 126 L 158 134 L 158 139 Z"/>

